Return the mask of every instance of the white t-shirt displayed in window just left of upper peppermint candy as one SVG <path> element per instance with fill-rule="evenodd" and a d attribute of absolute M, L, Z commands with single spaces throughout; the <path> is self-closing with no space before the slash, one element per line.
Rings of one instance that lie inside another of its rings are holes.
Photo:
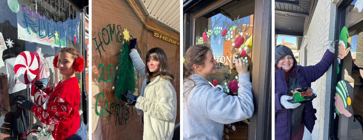
<path fill-rule="evenodd" d="M 5 60 L 5 74 L 8 75 L 9 93 L 15 93 L 26 88 L 26 84 L 23 84 L 15 76 L 14 72 L 15 58 L 9 58 Z"/>

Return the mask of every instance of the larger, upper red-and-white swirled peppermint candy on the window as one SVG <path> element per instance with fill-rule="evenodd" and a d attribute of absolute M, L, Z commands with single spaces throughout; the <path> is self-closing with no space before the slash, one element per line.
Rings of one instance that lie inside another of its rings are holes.
<path fill-rule="evenodd" d="M 21 83 L 30 84 L 37 76 L 39 61 L 32 52 L 21 52 L 15 60 L 15 76 Z"/>

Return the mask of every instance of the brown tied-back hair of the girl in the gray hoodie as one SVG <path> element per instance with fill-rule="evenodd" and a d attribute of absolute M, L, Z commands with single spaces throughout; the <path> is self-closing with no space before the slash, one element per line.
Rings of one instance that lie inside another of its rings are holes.
<path fill-rule="evenodd" d="M 199 66 L 204 66 L 204 61 L 207 59 L 206 55 L 208 51 L 212 51 L 211 47 L 204 44 L 197 44 L 192 45 L 185 53 L 185 62 L 183 63 L 183 81 L 186 82 L 187 80 L 190 80 L 193 82 L 193 86 L 188 89 L 188 93 L 185 96 L 185 101 L 187 101 L 188 94 L 195 87 L 195 82 L 189 78 L 190 75 L 194 74 L 193 65 L 197 64 Z"/>

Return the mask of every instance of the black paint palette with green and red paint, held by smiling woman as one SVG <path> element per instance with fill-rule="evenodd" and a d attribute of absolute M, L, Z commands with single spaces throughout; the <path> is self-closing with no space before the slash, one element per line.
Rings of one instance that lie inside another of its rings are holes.
<path fill-rule="evenodd" d="M 286 91 L 286 95 L 294 97 L 294 99 L 288 100 L 291 103 L 297 103 L 297 102 L 303 103 L 311 101 L 317 97 L 313 89 L 311 89 L 310 87 L 291 89 L 289 91 Z"/>

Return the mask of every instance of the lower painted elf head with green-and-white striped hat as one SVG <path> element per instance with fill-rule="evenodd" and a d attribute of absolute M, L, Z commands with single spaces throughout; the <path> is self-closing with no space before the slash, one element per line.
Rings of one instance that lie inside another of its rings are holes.
<path fill-rule="evenodd" d="M 335 113 L 344 114 L 351 117 L 352 114 L 347 110 L 347 106 L 351 104 L 351 99 L 348 97 L 348 88 L 344 81 L 339 81 L 337 84 L 337 93 L 335 93 Z"/>

